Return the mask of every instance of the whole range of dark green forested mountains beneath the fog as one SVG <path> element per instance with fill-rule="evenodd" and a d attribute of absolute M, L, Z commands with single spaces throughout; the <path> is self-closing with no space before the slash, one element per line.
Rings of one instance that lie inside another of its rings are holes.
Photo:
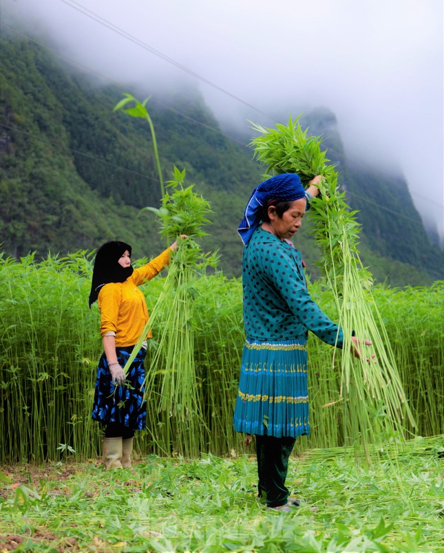
<path fill-rule="evenodd" d="M 121 238 L 131 242 L 138 257 L 156 254 L 165 244 L 154 216 L 145 213 L 136 219 L 140 208 L 158 206 L 160 199 L 149 126 L 112 111 L 124 92 L 140 100 L 144 94 L 94 85 L 32 41 L 3 34 L 0 47 L 4 252 L 21 256 L 36 250 L 45 257 L 49 250 L 64 254 Z M 160 105 L 156 97 L 147 105 L 164 179 L 169 179 L 174 164 L 187 169 L 187 183 L 196 183 L 214 212 L 205 247 L 220 250 L 226 275 L 239 275 L 242 243 L 236 227 L 263 171 L 250 149 L 220 131 L 198 92 L 181 94 L 168 98 L 171 108 Z M 374 276 L 395 285 L 427 284 L 441 276 L 442 252 L 430 245 L 403 180 L 395 182 L 350 164 L 330 111 L 310 113 L 306 124 L 312 133 L 326 136 L 329 157 L 338 164 L 350 193 L 349 203 L 361 209 L 362 258 Z M 379 204 L 401 215 L 395 217 Z M 296 240 L 317 276 L 317 254 L 308 229 Z"/>

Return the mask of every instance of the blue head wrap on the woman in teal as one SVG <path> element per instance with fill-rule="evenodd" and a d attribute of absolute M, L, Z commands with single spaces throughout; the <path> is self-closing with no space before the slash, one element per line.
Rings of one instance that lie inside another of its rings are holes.
<path fill-rule="evenodd" d="M 305 197 L 304 186 L 295 173 L 283 173 L 264 180 L 253 190 L 249 203 L 246 204 L 244 219 L 240 221 L 237 232 L 245 246 L 249 243 L 253 232 L 260 224 L 262 206 L 277 200 L 278 202 L 293 202 Z"/>

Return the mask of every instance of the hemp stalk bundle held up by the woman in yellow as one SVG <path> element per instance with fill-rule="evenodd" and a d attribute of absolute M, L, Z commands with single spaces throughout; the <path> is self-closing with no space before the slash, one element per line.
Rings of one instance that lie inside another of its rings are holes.
<path fill-rule="evenodd" d="M 204 267 L 217 263 L 217 254 L 204 254 L 195 241 L 206 235 L 202 227 L 209 223 L 211 208 L 204 197 L 193 191 L 193 185 L 184 186 L 184 178 L 185 170 L 175 167 L 160 208 L 145 208 L 156 213 L 160 235 L 167 243 L 178 239 L 180 247 L 171 253 L 160 295 L 124 370 L 131 365 L 149 329 L 154 328 L 156 336 L 150 348 L 154 353 L 145 365 L 144 382 L 149 420 L 158 420 L 161 429 L 154 431 L 152 440 L 166 454 L 176 451 L 186 457 L 198 457 L 207 448 L 209 430 L 202 422 L 202 386 L 195 365 L 194 283 Z M 187 238 L 180 239 L 180 235 Z"/>

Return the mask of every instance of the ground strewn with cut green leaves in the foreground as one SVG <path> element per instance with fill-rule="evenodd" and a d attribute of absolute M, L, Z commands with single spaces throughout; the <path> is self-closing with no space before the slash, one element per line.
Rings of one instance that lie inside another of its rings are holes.
<path fill-rule="evenodd" d="M 288 514 L 256 499 L 245 454 L 5 467 L 0 551 L 444 551 L 443 446 L 416 439 L 371 468 L 343 449 L 293 457 Z"/>

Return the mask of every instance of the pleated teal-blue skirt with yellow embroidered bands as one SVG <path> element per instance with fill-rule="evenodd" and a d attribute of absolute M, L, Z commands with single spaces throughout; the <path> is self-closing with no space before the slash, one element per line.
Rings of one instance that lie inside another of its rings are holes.
<path fill-rule="evenodd" d="M 267 342 L 247 338 L 233 424 L 246 434 L 310 434 L 305 336 Z"/>

